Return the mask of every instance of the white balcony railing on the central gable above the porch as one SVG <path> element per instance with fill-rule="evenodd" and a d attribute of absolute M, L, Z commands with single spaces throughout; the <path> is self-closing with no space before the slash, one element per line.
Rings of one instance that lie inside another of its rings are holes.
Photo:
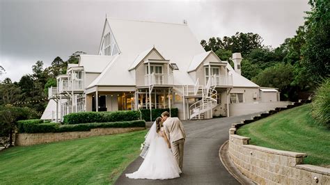
<path fill-rule="evenodd" d="M 173 74 L 146 74 L 144 83 L 146 86 L 173 85 Z"/>

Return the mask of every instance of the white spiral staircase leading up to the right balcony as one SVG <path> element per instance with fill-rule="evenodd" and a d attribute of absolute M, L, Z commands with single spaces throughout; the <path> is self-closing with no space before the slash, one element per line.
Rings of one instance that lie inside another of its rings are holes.
<path fill-rule="evenodd" d="M 202 88 L 202 99 L 189 106 L 190 120 L 204 119 L 205 112 L 217 106 L 217 90 Z"/>

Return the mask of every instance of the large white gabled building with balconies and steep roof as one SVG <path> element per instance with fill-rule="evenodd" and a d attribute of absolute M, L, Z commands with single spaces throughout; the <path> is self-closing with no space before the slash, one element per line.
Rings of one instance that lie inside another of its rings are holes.
<path fill-rule="evenodd" d="M 42 119 L 80 111 L 179 109 L 183 120 L 266 111 L 278 91 L 260 88 L 213 51 L 205 51 L 187 24 L 107 18 L 98 55 L 81 55 L 49 88 Z M 250 111 L 249 111 L 250 110 Z M 231 113 L 233 112 L 233 113 Z"/>

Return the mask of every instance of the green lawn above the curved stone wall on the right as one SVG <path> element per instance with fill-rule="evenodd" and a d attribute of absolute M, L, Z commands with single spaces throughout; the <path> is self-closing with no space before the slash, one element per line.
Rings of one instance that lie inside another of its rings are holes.
<path fill-rule="evenodd" d="M 251 138 L 251 145 L 304 152 L 304 163 L 330 166 L 330 130 L 318 126 L 310 114 L 311 104 L 291 108 L 246 124 L 237 134 Z"/>

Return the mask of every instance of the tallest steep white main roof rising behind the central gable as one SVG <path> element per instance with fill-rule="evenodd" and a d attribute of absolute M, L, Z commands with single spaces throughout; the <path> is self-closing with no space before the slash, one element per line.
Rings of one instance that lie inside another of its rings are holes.
<path fill-rule="evenodd" d="M 116 59 L 116 64 L 112 65 L 112 67 L 117 70 L 125 69 L 120 71 L 118 74 L 120 76 L 112 74 L 113 79 L 121 80 L 123 76 L 132 76 L 129 69 L 132 68 L 135 61 L 138 63 L 137 61 L 139 60 L 136 60 L 136 56 L 141 54 L 142 58 L 142 52 L 147 52 L 150 46 L 155 45 L 164 58 L 180 67 L 180 71 L 183 73 L 177 72 L 178 70 L 175 71 L 175 74 L 178 73 L 180 78 L 182 78 L 180 81 L 187 81 L 187 85 L 194 84 L 187 70 L 192 58 L 197 54 L 205 52 L 205 50 L 186 24 L 112 18 L 107 18 L 107 22 L 109 22 L 107 26 L 111 28 L 121 51 L 120 57 Z M 129 77 L 127 80 L 129 79 L 132 81 L 129 81 L 127 84 L 135 84 L 134 77 Z M 109 81 L 109 85 L 117 83 L 116 81 Z"/>

